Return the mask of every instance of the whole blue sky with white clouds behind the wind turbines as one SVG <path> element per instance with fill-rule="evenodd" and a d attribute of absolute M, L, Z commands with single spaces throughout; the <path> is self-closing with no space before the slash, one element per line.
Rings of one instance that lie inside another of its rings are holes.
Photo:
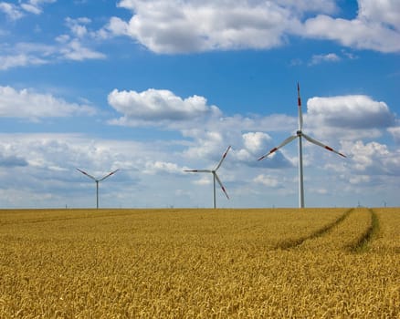
<path fill-rule="evenodd" d="M 400 206 L 397 0 L 0 1 L 0 206 Z"/>

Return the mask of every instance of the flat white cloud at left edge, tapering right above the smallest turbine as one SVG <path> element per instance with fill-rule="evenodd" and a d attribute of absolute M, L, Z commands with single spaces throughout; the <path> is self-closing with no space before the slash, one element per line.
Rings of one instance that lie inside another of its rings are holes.
<path fill-rule="evenodd" d="M 49 94 L 0 87 L 0 117 L 3 118 L 58 118 L 93 115 L 95 112 L 94 108 L 87 105 L 68 103 Z"/>

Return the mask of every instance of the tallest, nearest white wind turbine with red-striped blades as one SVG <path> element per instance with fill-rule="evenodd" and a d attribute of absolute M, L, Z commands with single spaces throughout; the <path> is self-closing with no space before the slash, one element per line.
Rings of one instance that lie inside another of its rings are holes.
<path fill-rule="evenodd" d="M 303 128 L 303 114 L 301 112 L 301 98 L 300 98 L 300 85 L 297 84 L 297 96 L 298 96 L 298 106 L 299 106 L 299 129 L 296 132 L 296 135 L 290 136 L 288 139 L 285 139 L 279 146 L 269 150 L 269 152 L 261 156 L 258 160 L 264 160 L 268 155 L 272 154 L 273 152 L 277 151 L 278 149 L 284 147 L 286 144 L 289 144 L 293 139 L 299 139 L 299 207 L 304 207 L 304 188 L 303 188 L 303 152 L 302 152 L 302 140 L 301 138 L 307 139 L 309 142 L 321 146 L 321 148 L 328 149 L 336 154 L 339 154 L 343 158 L 346 156 L 342 153 L 338 152 L 337 150 L 332 149 L 331 147 L 322 144 L 320 141 L 316 139 L 311 139 L 308 135 L 302 132 Z"/>

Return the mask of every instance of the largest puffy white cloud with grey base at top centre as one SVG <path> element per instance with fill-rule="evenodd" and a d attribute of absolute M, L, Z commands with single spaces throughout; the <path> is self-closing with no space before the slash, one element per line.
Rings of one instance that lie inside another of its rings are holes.
<path fill-rule="evenodd" d="M 294 2 L 287 3 L 124 0 L 119 6 L 132 10 L 132 19 L 114 18 L 108 28 L 157 53 L 270 48 L 282 45 L 285 30 L 298 23 L 289 10 Z"/>

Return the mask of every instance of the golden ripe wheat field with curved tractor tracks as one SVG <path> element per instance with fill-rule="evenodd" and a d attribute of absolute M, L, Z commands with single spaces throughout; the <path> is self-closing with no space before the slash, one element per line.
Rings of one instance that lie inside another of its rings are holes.
<path fill-rule="evenodd" d="M 0 318 L 400 318 L 400 209 L 0 211 Z"/>

